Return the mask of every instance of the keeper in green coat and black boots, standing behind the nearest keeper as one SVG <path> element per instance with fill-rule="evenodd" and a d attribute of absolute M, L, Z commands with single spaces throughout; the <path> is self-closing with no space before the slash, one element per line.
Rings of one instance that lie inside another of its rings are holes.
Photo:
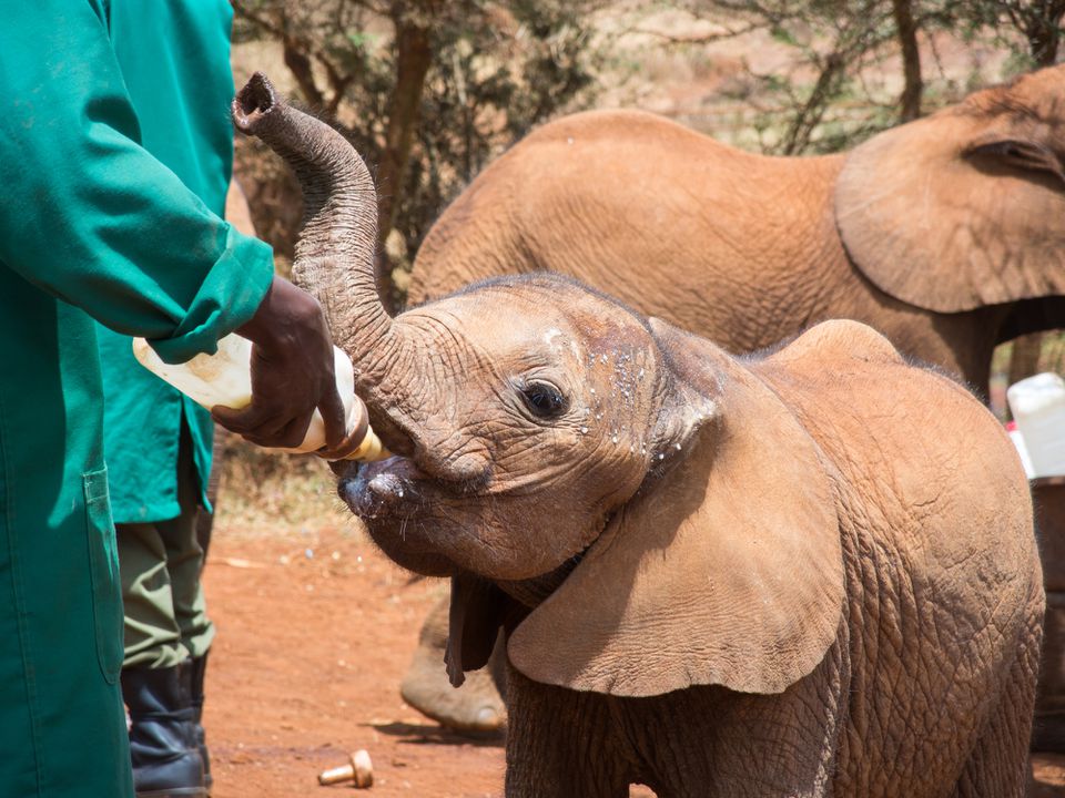
<path fill-rule="evenodd" d="M 141 145 L 219 216 L 233 163 L 233 125 L 222 112 L 234 94 L 232 17 L 226 0 L 112 2 L 110 14 Z M 97 337 L 125 611 L 121 684 L 133 784 L 138 795 L 195 795 L 213 781 L 201 716 L 214 626 L 196 538 L 200 507 L 212 510 L 213 423 L 206 410 L 136 362 L 129 336 L 100 326 Z"/>

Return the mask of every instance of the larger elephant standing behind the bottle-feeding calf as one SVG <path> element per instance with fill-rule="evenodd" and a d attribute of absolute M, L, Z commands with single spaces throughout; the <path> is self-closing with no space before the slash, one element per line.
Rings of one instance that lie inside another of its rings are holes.
<path fill-rule="evenodd" d="M 1065 65 L 821 157 L 746 153 L 640 112 L 564 117 L 445 211 L 409 301 L 539 269 L 733 352 L 858 319 L 985 393 L 997 344 L 1065 326 Z M 476 727 L 496 699 L 484 679 L 448 690 L 445 622 L 442 605 L 403 693 Z"/>

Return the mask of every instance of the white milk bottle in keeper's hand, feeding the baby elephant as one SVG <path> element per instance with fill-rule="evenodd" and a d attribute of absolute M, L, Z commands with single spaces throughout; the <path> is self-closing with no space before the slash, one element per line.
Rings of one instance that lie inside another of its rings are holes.
<path fill-rule="evenodd" d="M 219 341 L 219 351 L 214 355 L 196 355 L 183 364 L 165 364 L 143 338 L 133 339 L 133 356 L 149 371 L 160 377 L 197 405 L 209 410 L 215 405 L 240 410 L 252 402 L 252 342 L 234 334 Z M 342 350 L 333 347 L 336 389 L 344 402 L 347 430 L 355 429 L 362 420 L 366 407 L 355 396 L 355 372 L 352 361 Z M 303 442 L 294 449 L 277 451 L 306 453 L 325 446 L 325 421 L 317 410 L 311 419 L 311 427 Z M 388 457 L 381 439 L 367 427 L 363 442 L 348 460 L 381 460 Z"/>

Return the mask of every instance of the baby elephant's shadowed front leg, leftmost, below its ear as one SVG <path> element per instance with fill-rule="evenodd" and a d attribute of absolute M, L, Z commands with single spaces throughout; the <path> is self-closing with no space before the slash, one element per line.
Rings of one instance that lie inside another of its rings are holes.
<path fill-rule="evenodd" d="M 629 763 L 607 696 L 507 668 L 507 798 L 627 798 Z"/>

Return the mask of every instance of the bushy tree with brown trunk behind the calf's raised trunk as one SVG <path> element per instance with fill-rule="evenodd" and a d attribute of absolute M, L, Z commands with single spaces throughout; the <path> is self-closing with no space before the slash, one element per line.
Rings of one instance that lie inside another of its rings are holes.
<path fill-rule="evenodd" d="M 602 58 L 604 0 L 231 2 L 234 38 L 280 42 L 302 100 L 375 168 L 381 242 L 408 253 L 489 157 L 590 101 Z"/>

